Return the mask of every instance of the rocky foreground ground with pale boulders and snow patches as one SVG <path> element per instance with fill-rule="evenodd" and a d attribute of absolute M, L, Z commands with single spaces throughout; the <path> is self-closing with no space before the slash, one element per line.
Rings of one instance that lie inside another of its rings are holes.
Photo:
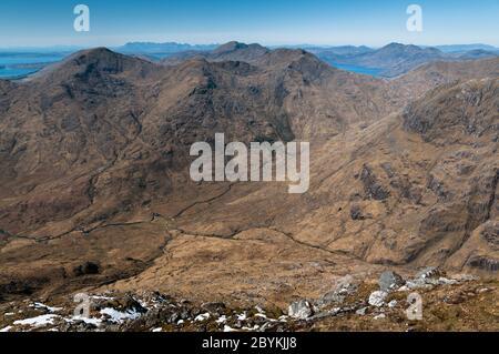
<path fill-rule="evenodd" d="M 420 275 L 420 274 L 419 274 Z M 436 275 L 436 274 L 434 274 Z M 432 275 L 432 276 L 434 276 Z M 428 277 L 431 279 L 431 277 Z M 0 332 L 294 332 L 294 331 L 498 331 L 498 281 L 450 277 L 449 284 L 421 287 L 424 321 L 406 316 L 414 290 L 383 292 L 374 282 L 339 281 L 339 302 L 293 303 L 287 313 L 261 305 L 195 303 L 161 293 L 89 295 L 89 315 L 75 314 L 73 296 L 0 304 Z M 330 294 L 329 294 L 330 295 Z M 324 297 L 324 296 L 323 296 Z M 323 300 L 323 299 L 322 299 Z"/>

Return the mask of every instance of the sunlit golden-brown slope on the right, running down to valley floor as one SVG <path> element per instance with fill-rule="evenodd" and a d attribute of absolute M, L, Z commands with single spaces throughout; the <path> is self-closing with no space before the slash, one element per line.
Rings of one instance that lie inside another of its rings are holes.
<path fill-rule="evenodd" d="M 305 195 L 248 183 L 192 204 L 166 222 L 164 256 L 102 290 L 281 302 L 386 266 L 497 276 L 498 83 L 441 87 L 404 114 L 313 144 Z"/>

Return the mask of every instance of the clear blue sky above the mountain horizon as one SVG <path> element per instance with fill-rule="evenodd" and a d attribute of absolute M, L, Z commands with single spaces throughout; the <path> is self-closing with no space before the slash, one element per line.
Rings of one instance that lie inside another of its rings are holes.
<path fill-rule="evenodd" d="M 91 31 L 73 29 L 88 4 Z M 406 9 L 422 7 L 424 31 Z M 119 45 L 128 41 L 262 44 L 488 43 L 499 45 L 499 0 L 1 0 L 0 48 Z"/>

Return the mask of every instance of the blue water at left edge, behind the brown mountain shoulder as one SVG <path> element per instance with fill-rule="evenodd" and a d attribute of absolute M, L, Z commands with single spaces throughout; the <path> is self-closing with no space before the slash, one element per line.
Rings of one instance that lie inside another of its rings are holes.
<path fill-rule="evenodd" d="M 0 79 L 17 79 L 39 71 L 47 64 L 62 60 L 65 54 L 2 53 L 0 52 Z"/>

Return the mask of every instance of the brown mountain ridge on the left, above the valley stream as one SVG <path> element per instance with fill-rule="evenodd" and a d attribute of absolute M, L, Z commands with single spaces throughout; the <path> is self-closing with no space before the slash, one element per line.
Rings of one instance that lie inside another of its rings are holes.
<path fill-rule="evenodd" d="M 244 142 L 329 136 L 400 105 L 395 98 L 377 104 L 390 99 L 386 83 L 334 70 L 301 50 L 265 52 L 254 62 L 259 67 L 201 59 L 165 68 L 96 49 L 16 87 L 2 120 L 3 144 L 10 146 L 2 229 L 32 232 L 51 218 L 102 209 L 99 198 L 116 203 L 92 216 L 105 219 L 123 200 L 139 203 L 142 194 L 157 193 L 147 179 L 157 183 L 163 173 L 183 168 L 190 145 L 213 140 L 215 132 Z M 111 171 L 120 171 L 113 178 L 121 182 L 101 192 L 99 176 Z M 67 185 L 67 194 L 47 195 L 72 179 L 79 192 Z M 27 194 L 40 201 L 26 205 Z"/>

